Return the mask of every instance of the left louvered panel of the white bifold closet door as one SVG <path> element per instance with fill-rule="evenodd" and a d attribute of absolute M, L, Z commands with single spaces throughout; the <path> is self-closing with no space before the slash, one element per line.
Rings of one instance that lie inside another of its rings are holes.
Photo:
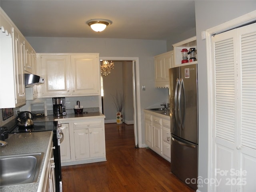
<path fill-rule="evenodd" d="M 232 30 L 212 37 L 215 68 L 215 170 L 236 169 L 238 103 L 235 36 L 235 30 Z M 219 186 L 215 185 L 214 191 L 235 191 L 234 186 L 224 182 L 226 175 L 217 173 L 215 177 L 222 182 Z"/>

